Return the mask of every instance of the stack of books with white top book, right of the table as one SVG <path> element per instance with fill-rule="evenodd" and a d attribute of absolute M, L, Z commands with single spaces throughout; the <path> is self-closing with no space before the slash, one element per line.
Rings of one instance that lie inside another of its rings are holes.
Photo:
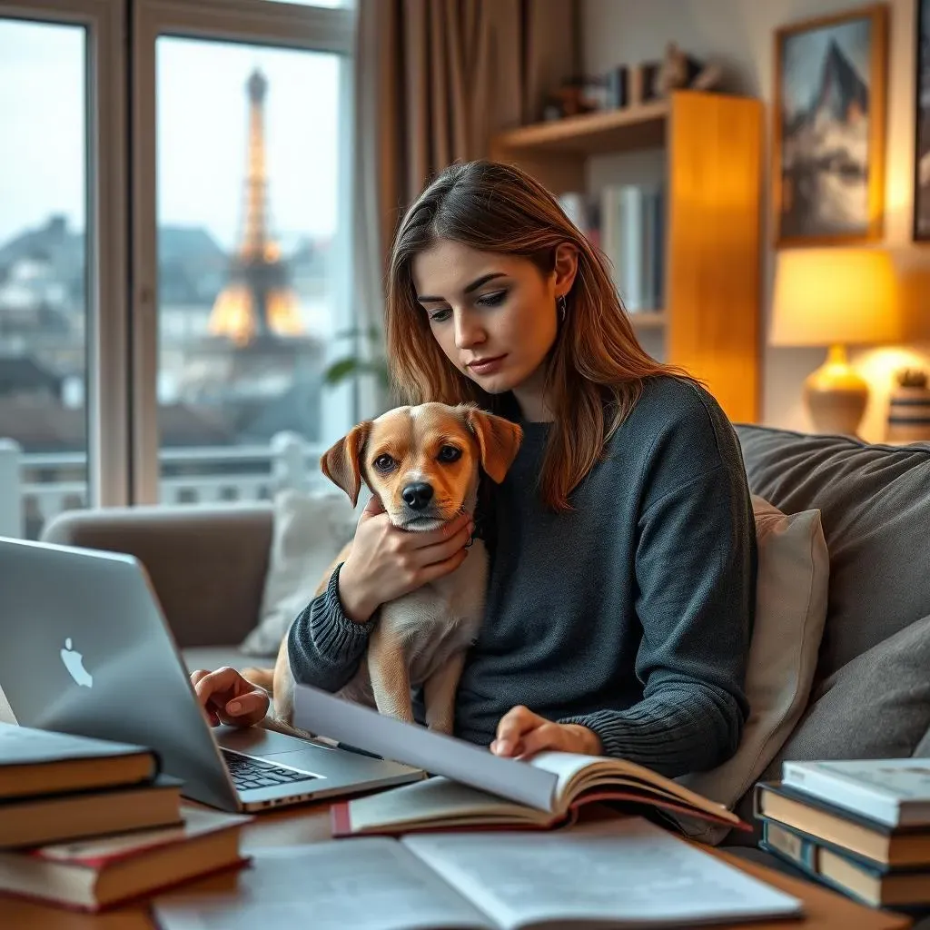
<path fill-rule="evenodd" d="M 874 907 L 930 907 L 930 759 L 789 762 L 756 786 L 760 845 Z"/>

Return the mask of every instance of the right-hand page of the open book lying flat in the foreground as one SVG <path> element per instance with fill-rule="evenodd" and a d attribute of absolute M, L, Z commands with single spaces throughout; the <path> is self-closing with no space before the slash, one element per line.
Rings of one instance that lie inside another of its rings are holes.
<path fill-rule="evenodd" d="M 802 902 L 641 817 L 555 833 L 436 833 L 402 841 L 504 930 L 722 923 Z"/>

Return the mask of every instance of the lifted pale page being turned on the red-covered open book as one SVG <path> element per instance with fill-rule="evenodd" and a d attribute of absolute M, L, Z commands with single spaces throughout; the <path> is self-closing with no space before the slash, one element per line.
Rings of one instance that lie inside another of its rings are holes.
<path fill-rule="evenodd" d="M 499 794 L 518 804 L 552 811 L 556 777 L 516 759 L 501 759 L 464 739 L 384 716 L 308 684 L 294 686 L 294 724 L 301 730 L 416 765 L 432 775 Z"/>

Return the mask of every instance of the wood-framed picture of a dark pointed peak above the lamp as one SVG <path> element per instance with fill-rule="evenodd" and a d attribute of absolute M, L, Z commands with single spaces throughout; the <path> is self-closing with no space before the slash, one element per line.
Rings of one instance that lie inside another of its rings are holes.
<path fill-rule="evenodd" d="M 785 26 L 775 45 L 776 246 L 880 237 L 887 7 Z"/>

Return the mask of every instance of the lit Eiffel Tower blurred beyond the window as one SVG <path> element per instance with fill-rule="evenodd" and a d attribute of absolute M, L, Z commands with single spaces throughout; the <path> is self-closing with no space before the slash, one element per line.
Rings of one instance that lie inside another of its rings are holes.
<path fill-rule="evenodd" d="M 298 299 L 290 270 L 268 230 L 265 171 L 265 95 L 268 81 L 254 71 L 246 82 L 248 159 L 245 223 L 229 279 L 213 304 L 208 323 L 214 336 L 246 347 L 258 341 L 301 335 Z"/>

